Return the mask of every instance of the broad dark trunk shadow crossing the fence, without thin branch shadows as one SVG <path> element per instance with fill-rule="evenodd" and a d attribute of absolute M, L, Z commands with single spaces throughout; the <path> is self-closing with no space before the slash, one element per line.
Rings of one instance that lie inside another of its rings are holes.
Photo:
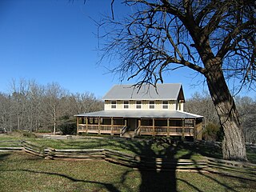
<path fill-rule="evenodd" d="M 178 159 L 175 155 L 178 153 L 179 146 L 174 145 L 170 138 L 165 138 L 164 142 L 162 138 L 122 142 L 122 148 L 132 151 L 141 160 L 138 165 L 141 175 L 139 191 L 177 191 Z M 186 154 L 186 157 L 182 158 L 190 158 L 191 155 Z M 171 166 L 168 165 L 170 162 Z M 197 190 L 192 184 L 190 186 Z"/>

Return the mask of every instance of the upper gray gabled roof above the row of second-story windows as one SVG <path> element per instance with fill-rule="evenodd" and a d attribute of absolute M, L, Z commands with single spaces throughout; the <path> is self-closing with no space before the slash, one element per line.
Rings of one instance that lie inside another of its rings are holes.
<path fill-rule="evenodd" d="M 115 85 L 103 97 L 104 100 L 185 100 L 180 83 L 142 85 Z"/>

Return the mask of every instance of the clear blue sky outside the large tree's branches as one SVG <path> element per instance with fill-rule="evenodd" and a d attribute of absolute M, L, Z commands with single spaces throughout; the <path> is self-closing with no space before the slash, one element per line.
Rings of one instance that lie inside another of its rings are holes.
<path fill-rule="evenodd" d="M 97 64 L 97 26 L 92 18 L 110 15 L 110 2 L 0 0 L 0 92 L 8 92 L 12 79 L 25 78 L 40 85 L 58 82 L 71 93 L 89 91 L 101 98 L 120 83 L 104 63 Z M 115 14 L 124 13 L 122 7 L 115 3 Z M 182 83 L 186 98 L 207 89 L 198 84 L 203 78 L 192 70 L 177 70 L 165 77 L 166 83 Z M 255 96 L 255 92 L 243 94 Z"/>

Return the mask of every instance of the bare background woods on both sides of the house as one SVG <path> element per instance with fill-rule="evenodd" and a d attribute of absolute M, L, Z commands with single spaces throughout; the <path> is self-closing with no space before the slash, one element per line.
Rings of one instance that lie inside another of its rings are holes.
<path fill-rule="evenodd" d="M 256 141 L 256 101 L 250 97 L 236 98 L 246 142 Z M 218 115 L 207 93 L 195 93 L 186 100 L 185 111 L 205 118 L 203 138 L 222 141 Z M 13 81 L 10 93 L 0 93 L 0 130 L 56 131 L 67 134 L 75 130 L 74 114 L 103 109 L 103 102 L 94 94 L 71 94 L 57 83 L 46 86 L 34 81 Z"/>

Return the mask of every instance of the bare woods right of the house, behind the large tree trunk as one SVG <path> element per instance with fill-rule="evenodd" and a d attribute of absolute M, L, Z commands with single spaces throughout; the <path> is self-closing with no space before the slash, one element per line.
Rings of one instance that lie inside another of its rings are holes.
<path fill-rule="evenodd" d="M 238 108 L 238 114 L 242 123 L 243 133 L 246 142 L 256 142 L 256 100 L 247 96 L 235 97 L 235 102 Z M 219 118 L 214 103 L 210 98 L 210 94 L 196 92 L 192 97 L 186 100 L 184 110 L 193 114 L 204 116 L 205 129 L 202 136 L 209 141 L 222 141 L 223 130 L 219 123 Z"/>

